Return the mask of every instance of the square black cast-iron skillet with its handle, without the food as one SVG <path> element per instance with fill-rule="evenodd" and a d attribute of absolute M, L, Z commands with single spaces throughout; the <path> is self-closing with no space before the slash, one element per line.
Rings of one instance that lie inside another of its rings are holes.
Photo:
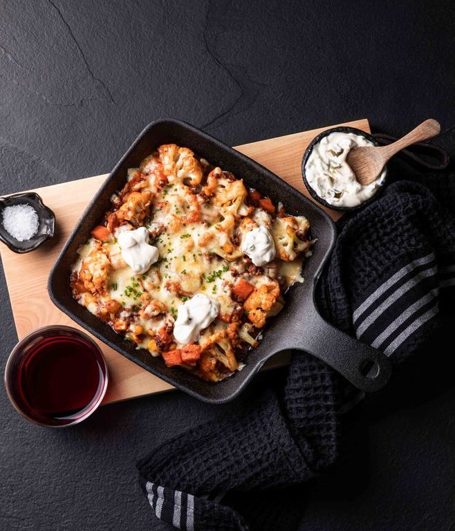
<path fill-rule="evenodd" d="M 91 229 L 100 223 L 104 212 L 110 208 L 109 198 L 123 187 L 127 169 L 138 167 L 151 151 L 167 143 L 189 147 L 198 156 L 243 178 L 245 185 L 258 189 L 275 204 L 281 201 L 290 214 L 306 216 L 313 237 L 317 238 L 313 256 L 304 265 L 305 282 L 297 283 L 288 290 L 284 309 L 270 319 L 263 330 L 263 339 L 248 354 L 242 371 L 221 382 L 205 382 L 182 369 L 169 369 L 161 357 L 152 357 L 145 349 L 136 350 L 133 342 L 123 339 L 110 326 L 77 304 L 69 287 L 70 268 L 76 259 L 77 248 L 89 239 Z M 335 226 L 331 218 L 268 169 L 185 122 L 156 120 L 140 133 L 82 214 L 50 272 L 48 292 L 60 310 L 102 342 L 143 369 L 205 402 L 215 404 L 232 400 L 266 360 L 289 348 L 306 351 L 324 360 L 358 389 L 375 391 L 389 379 L 391 369 L 388 358 L 328 324 L 316 308 L 315 281 L 334 242 Z"/>

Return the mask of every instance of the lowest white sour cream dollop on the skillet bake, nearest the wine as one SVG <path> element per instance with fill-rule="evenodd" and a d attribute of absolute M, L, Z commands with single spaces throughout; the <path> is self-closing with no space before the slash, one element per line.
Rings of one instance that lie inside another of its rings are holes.
<path fill-rule="evenodd" d="M 194 343 L 199 333 L 218 317 L 219 304 L 207 295 L 194 295 L 178 307 L 174 337 L 181 344 Z"/>

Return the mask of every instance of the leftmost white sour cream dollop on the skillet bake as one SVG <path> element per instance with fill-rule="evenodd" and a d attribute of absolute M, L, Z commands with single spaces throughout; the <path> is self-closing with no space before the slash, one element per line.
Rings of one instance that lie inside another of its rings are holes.
<path fill-rule="evenodd" d="M 158 249 L 149 244 L 149 232 L 145 227 L 120 232 L 118 245 L 124 261 L 136 274 L 145 273 L 158 260 Z"/>

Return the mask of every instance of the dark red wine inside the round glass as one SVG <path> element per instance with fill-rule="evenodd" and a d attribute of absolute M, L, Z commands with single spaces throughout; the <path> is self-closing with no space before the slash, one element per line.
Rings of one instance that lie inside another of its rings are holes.
<path fill-rule="evenodd" d="M 17 373 L 18 391 L 31 418 L 77 420 L 97 400 L 104 369 L 95 344 L 51 335 L 29 346 Z"/>

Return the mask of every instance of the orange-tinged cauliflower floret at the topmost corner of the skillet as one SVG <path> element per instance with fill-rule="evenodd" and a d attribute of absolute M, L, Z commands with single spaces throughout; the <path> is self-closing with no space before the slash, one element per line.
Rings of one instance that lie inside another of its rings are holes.
<path fill-rule="evenodd" d="M 165 144 L 158 148 L 163 171 L 169 182 L 197 186 L 202 180 L 202 168 L 191 149 Z"/>

